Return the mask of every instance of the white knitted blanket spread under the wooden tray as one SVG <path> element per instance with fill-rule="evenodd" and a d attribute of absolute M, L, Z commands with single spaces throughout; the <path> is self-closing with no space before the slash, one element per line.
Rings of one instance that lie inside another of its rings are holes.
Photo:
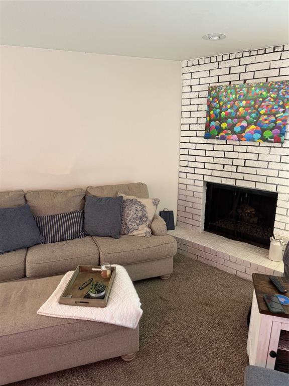
<path fill-rule="evenodd" d="M 73 271 L 67 272 L 51 297 L 37 311 L 39 315 L 55 318 L 83 319 L 94 322 L 116 324 L 128 328 L 136 328 L 142 315 L 141 303 L 132 281 L 125 268 L 116 267 L 116 275 L 112 284 L 106 307 L 81 307 L 59 304 L 59 298 Z"/>

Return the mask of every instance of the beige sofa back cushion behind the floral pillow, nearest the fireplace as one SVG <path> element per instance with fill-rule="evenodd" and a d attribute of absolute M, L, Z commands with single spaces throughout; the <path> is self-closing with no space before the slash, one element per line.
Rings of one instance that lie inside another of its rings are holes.
<path fill-rule="evenodd" d="M 135 196 L 138 199 L 148 199 L 148 186 L 142 182 L 134 182 L 119 185 L 87 186 L 88 195 L 95 197 L 117 197 L 118 191 L 123 191 L 127 196 Z"/>

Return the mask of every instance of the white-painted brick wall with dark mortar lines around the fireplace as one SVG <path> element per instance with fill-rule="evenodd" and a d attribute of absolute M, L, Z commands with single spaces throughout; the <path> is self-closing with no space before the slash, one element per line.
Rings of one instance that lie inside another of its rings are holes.
<path fill-rule="evenodd" d="M 202 231 L 206 181 L 278 193 L 276 236 L 289 240 L 289 133 L 283 144 L 204 139 L 208 87 L 288 79 L 289 46 L 183 61 L 178 225 Z"/>

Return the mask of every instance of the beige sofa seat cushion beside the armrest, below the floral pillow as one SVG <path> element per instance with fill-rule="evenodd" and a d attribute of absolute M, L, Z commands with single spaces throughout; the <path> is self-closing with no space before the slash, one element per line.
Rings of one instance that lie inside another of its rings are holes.
<path fill-rule="evenodd" d="M 133 264 L 158 260 L 177 253 L 172 236 L 137 237 L 121 235 L 119 239 L 92 236 L 99 249 L 101 264 Z"/>

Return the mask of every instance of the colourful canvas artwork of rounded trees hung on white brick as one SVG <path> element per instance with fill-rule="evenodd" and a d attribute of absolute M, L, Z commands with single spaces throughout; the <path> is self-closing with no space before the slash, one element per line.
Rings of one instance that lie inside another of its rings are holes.
<path fill-rule="evenodd" d="M 209 87 L 205 138 L 284 141 L 289 80 Z"/>

